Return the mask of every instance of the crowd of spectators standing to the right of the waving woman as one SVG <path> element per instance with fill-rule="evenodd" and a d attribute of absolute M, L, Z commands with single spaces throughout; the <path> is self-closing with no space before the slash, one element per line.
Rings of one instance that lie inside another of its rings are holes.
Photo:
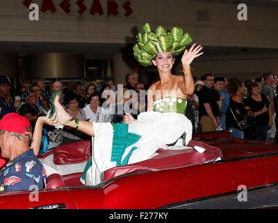
<path fill-rule="evenodd" d="M 191 100 L 197 117 L 195 132 L 231 130 L 234 138 L 277 143 L 277 75 L 242 82 L 206 74 L 201 80 L 195 78 Z"/>

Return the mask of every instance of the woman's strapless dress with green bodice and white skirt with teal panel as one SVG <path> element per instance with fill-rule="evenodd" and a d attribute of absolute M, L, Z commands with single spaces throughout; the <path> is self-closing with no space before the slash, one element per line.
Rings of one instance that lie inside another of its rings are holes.
<path fill-rule="evenodd" d="M 85 167 L 81 182 L 97 185 L 106 169 L 141 162 L 158 148 L 173 144 L 186 132 L 186 144 L 192 137 L 192 124 L 184 116 L 186 100 L 161 98 L 154 102 L 154 112 L 143 112 L 130 123 L 93 123 L 92 160 Z"/>

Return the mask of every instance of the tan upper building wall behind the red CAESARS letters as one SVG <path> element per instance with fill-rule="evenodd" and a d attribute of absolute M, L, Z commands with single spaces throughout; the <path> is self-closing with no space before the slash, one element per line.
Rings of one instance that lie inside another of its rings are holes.
<path fill-rule="evenodd" d="M 33 1 L 42 6 L 43 0 Z M 149 22 L 153 29 L 182 26 L 202 45 L 278 48 L 277 13 L 272 8 L 248 7 L 248 20 L 238 21 L 237 6 L 185 0 L 130 0 L 133 13 L 124 17 L 124 0 L 115 0 L 120 15 L 106 14 L 106 1 L 101 0 L 104 15 L 90 15 L 93 0 L 84 1 L 88 9 L 79 15 L 76 1 L 67 15 L 56 3 L 56 13 L 40 12 L 40 20 L 28 20 L 29 10 L 23 1 L 2 0 L 0 8 L 0 41 L 40 41 L 78 43 L 133 43 L 133 33 Z M 197 22 L 197 10 L 209 11 L 209 22 Z"/>

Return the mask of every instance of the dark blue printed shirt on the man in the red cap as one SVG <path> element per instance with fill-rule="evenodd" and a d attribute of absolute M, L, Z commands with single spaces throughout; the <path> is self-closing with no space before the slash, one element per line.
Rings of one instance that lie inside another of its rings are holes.
<path fill-rule="evenodd" d="M 33 149 L 22 153 L 0 171 L 0 192 L 33 190 L 46 185 L 47 173 Z M 33 187 L 30 187 L 33 185 Z"/>

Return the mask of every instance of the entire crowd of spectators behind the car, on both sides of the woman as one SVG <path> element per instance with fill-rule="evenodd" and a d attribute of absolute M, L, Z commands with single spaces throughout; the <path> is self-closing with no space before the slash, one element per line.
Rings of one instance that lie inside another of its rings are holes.
<path fill-rule="evenodd" d="M 206 74 L 200 79 L 194 77 L 194 82 L 195 91 L 188 95 L 185 115 L 192 121 L 195 133 L 231 130 L 234 138 L 267 141 L 270 136 L 277 139 L 277 75 L 269 73 L 242 82 L 236 77 L 228 79 Z M 62 82 L 56 81 L 51 83 L 51 92 L 48 92 L 43 79 L 34 79 L 32 84 L 23 82 L 13 100 L 11 86 L 10 79 L 0 75 L 0 119 L 5 114 L 17 112 L 26 117 L 33 128 L 38 117 L 50 109 L 51 93 L 63 93 L 66 88 Z M 137 118 L 140 112 L 146 111 L 146 90 L 145 84 L 139 82 L 138 74 L 131 72 L 126 75 L 123 89 L 117 89 L 111 79 L 102 85 L 100 91 L 94 84 L 76 84 L 72 91 L 62 94 L 61 102 L 74 118 L 119 123 L 126 113 Z M 86 136 L 74 128 L 63 129 L 62 143 L 82 139 Z"/>

